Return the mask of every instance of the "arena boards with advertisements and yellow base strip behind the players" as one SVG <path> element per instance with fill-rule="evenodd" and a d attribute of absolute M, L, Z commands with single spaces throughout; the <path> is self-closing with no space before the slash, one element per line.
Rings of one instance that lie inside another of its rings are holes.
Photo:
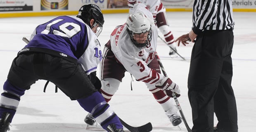
<path fill-rule="evenodd" d="M 167 12 L 191 12 L 193 0 L 161 0 Z M 0 0 L 0 18 L 76 15 L 79 7 L 96 4 L 103 14 L 128 13 L 127 0 Z M 256 12 L 256 0 L 233 0 L 234 12 Z"/>

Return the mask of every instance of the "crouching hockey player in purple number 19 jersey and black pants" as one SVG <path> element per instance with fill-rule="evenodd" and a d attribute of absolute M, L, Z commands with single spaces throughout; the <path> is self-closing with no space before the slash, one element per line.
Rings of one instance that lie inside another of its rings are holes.
<path fill-rule="evenodd" d="M 104 24 L 97 5 L 84 5 L 76 17 L 59 16 L 36 27 L 13 60 L 0 99 L 0 132 L 7 132 L 20 97 L 37 80 L 59 87 L 77 100 L 107 132 L 124 132 L 119 117 L 98 92 L 96 68 L 102 59 L 97 36 Z"/>

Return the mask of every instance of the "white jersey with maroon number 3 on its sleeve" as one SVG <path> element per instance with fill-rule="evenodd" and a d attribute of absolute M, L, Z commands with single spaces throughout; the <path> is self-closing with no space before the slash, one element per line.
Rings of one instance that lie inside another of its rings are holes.
<path fill-rule="evenodd" d="M 158 34 L 156 26 L 152 25 L 152 40 L 149 46 L 144 49 L 140 49 L 133 44 L 126 28 L 126 25 L 123 25 L 111 33 L 111 50 L 116 59 L 136 80 L 150 84 L 160 82 L 164 75 L 147 66 L 154 59 L 156 51 Z"/>

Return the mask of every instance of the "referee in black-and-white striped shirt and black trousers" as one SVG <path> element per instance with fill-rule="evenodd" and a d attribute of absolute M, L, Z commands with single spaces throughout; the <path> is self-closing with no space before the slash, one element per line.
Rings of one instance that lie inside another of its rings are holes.
<path fill-rule="evenodd" d="M 187 82 L 192 132 L 237 132 L 237 106 L 231 86 L 232 0 L 194 0 L 192 19 L 190 33 L 175 40 L 178 46 L 188 44 L 188 40 L 195 42 Z"/>

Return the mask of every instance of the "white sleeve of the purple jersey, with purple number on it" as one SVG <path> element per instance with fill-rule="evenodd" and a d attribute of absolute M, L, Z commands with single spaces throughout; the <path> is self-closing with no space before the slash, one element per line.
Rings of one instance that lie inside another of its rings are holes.
<path fill-rule="evenodd" d="M 90 29 L 88 25 L 87 29 Z M 97 40 L 97 36 L 92 30 L 88 30 L 88 47 L 83 55 L 78 58 L 78 63 L 81 64 L 85 70 L 86 75 L 96 71 L 100 60 L 102 59 L 102 51 L 100 42 Z"/>

